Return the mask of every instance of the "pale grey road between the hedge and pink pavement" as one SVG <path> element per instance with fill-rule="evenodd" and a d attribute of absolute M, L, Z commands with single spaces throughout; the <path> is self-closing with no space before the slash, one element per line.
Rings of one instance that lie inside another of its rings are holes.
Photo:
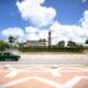
<path fill-rule="evenodd" d="M 12 65 L 88 65 L 88 54 L 21 54 L 19 62 L 0 62 Z"/>

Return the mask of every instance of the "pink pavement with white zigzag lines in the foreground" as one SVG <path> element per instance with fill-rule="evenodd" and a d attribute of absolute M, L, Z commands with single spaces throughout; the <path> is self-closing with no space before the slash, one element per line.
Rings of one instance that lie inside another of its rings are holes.
<path fill-rule="evenodd" d="M 0 65 L 0 88 L 88 88 L 88 67 Z"/>

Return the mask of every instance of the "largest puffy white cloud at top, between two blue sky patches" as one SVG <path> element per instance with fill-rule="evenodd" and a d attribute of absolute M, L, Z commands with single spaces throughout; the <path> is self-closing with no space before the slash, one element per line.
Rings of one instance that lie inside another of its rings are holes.
<path fill-rule="evenodd" d="M 21 16 L 31 21 L 35 26 L 47 26 L 53 23 L 56 10 L 42 6 L 45 0 L 24 0 L 16 2 Z"/>

